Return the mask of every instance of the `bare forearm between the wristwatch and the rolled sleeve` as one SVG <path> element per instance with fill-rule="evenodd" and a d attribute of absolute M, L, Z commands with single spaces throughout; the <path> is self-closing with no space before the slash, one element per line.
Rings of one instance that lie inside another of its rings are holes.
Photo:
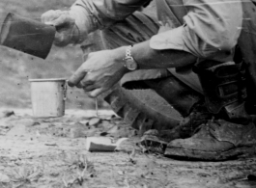
<path fill-rule="evenodd" d="M 135 44 L 131 55 L 140 69 L 185 67 L 196 62 L 194 55 L 174 49 L 155 50 L 150 47 L 150 41 Z M 115 49 L 120 54 L 120 61 L 126 54 L 126 46 Z"/>

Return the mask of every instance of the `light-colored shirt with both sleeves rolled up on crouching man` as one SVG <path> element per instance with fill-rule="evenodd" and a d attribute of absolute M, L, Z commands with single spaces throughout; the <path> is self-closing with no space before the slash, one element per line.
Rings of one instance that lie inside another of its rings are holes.
<path fill-rule="evenodd" d="M 228 61 L 242 30 L 242 1 L 156 0 L 157 17 L 162 26 L 152 37 L 150 46 L 156 50 L 184 50 L 202 59 Z M 90 32 L 125 19 L 147 2 L 77 0 L 71 14 L 80 30 L 80 40 Z M 181 13 L 182 18 L 172 16 L 173 12 Z"/>

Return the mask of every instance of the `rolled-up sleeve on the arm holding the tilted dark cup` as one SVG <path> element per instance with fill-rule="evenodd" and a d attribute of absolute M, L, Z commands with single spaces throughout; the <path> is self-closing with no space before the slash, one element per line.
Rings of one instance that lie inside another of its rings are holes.
<path fill-rule="evenodd" d="M 150 0 L 77 0 L 71 15 L 80 31 L 80 40 L 100 28 L 109 27 L 125 19 Z"/>

